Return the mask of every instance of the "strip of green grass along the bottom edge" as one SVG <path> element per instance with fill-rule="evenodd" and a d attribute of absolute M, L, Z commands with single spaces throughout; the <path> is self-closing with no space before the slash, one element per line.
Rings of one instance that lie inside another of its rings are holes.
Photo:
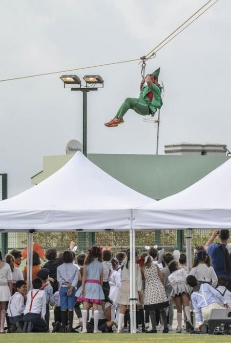
<path fill-rule="evenodd" d="M 189 334 L 5 334 L 0 343 L 231 343 L 231 336 L 189 335 Z"/>

